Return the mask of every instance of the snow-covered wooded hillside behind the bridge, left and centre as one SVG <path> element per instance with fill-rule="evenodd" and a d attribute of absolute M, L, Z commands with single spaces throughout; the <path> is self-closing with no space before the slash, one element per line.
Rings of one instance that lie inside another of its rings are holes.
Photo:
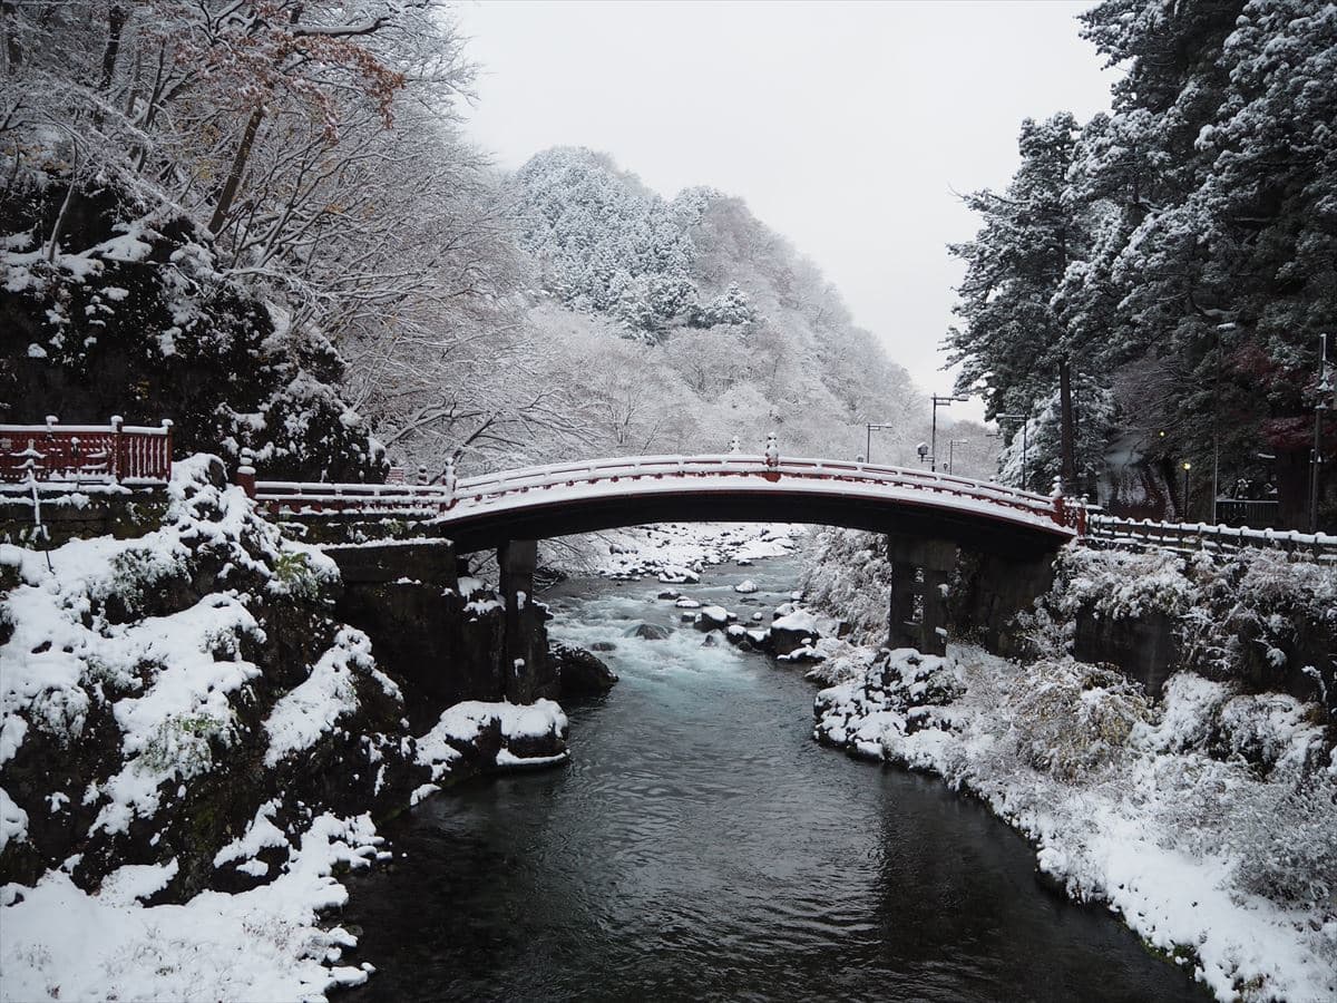
<path fill-rule="evenodd" d="M 495 171 L 447 4 L 0 17 L 0 420 L 172 417 L 271 476 L 377 479 L 770 431 L 853 456 L 923 412 L 739 199 L 582 150 Z"/>

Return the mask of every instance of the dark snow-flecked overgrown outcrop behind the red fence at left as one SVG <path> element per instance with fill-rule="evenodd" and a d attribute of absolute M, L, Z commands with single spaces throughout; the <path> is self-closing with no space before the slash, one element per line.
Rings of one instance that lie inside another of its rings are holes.
<path fill-rule="evenodd" d="M 235 461 L 251 447 L 269 476 L 382 475 L 384 451 L 337 391 L 334 346 L 286 318 L 275 324 L 227 274 L 203 227 L 143 191 L 90 186 L 76 199 L 88 211 L 48 255 L 39 223 L 70 181 L 28 182 L 0 210 L 4 420 L 170 417 L 178 449 Z"/>

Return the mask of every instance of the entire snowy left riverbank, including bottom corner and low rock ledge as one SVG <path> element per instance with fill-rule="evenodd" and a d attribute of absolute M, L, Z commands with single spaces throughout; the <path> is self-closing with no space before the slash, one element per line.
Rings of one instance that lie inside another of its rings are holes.
<path fill-rule="evenodd" d="M 551 701 L 409 734 L 337 575 L 207 457 L 146 536 L 0 544 L 0 1000 L 322 999 L 369 974 L 329 911 L 373 810 L 564 758 Z"/>

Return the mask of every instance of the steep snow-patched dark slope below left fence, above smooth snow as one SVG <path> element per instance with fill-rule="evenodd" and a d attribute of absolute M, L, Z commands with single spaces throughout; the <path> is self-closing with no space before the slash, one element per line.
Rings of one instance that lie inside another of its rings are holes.
<path fill-rule="evenodd" d="M 406 801 L 402 698 L 365 635 L 329 618 L 337 571 L 219 469 L 178 461 L 142 538 L 0 547 L 17 570 L 0 592 L 0 764 L 28 818 L 0 847 L 0 880 L 32 883 L 78 845 L 79 887 L 171 864 L 163 895 L 183 900 L 225 880 L 210 861 L 261 802 L 299 832 L 299 801 Z M 301 754 L 269 762 L 279 745 Z"/>

